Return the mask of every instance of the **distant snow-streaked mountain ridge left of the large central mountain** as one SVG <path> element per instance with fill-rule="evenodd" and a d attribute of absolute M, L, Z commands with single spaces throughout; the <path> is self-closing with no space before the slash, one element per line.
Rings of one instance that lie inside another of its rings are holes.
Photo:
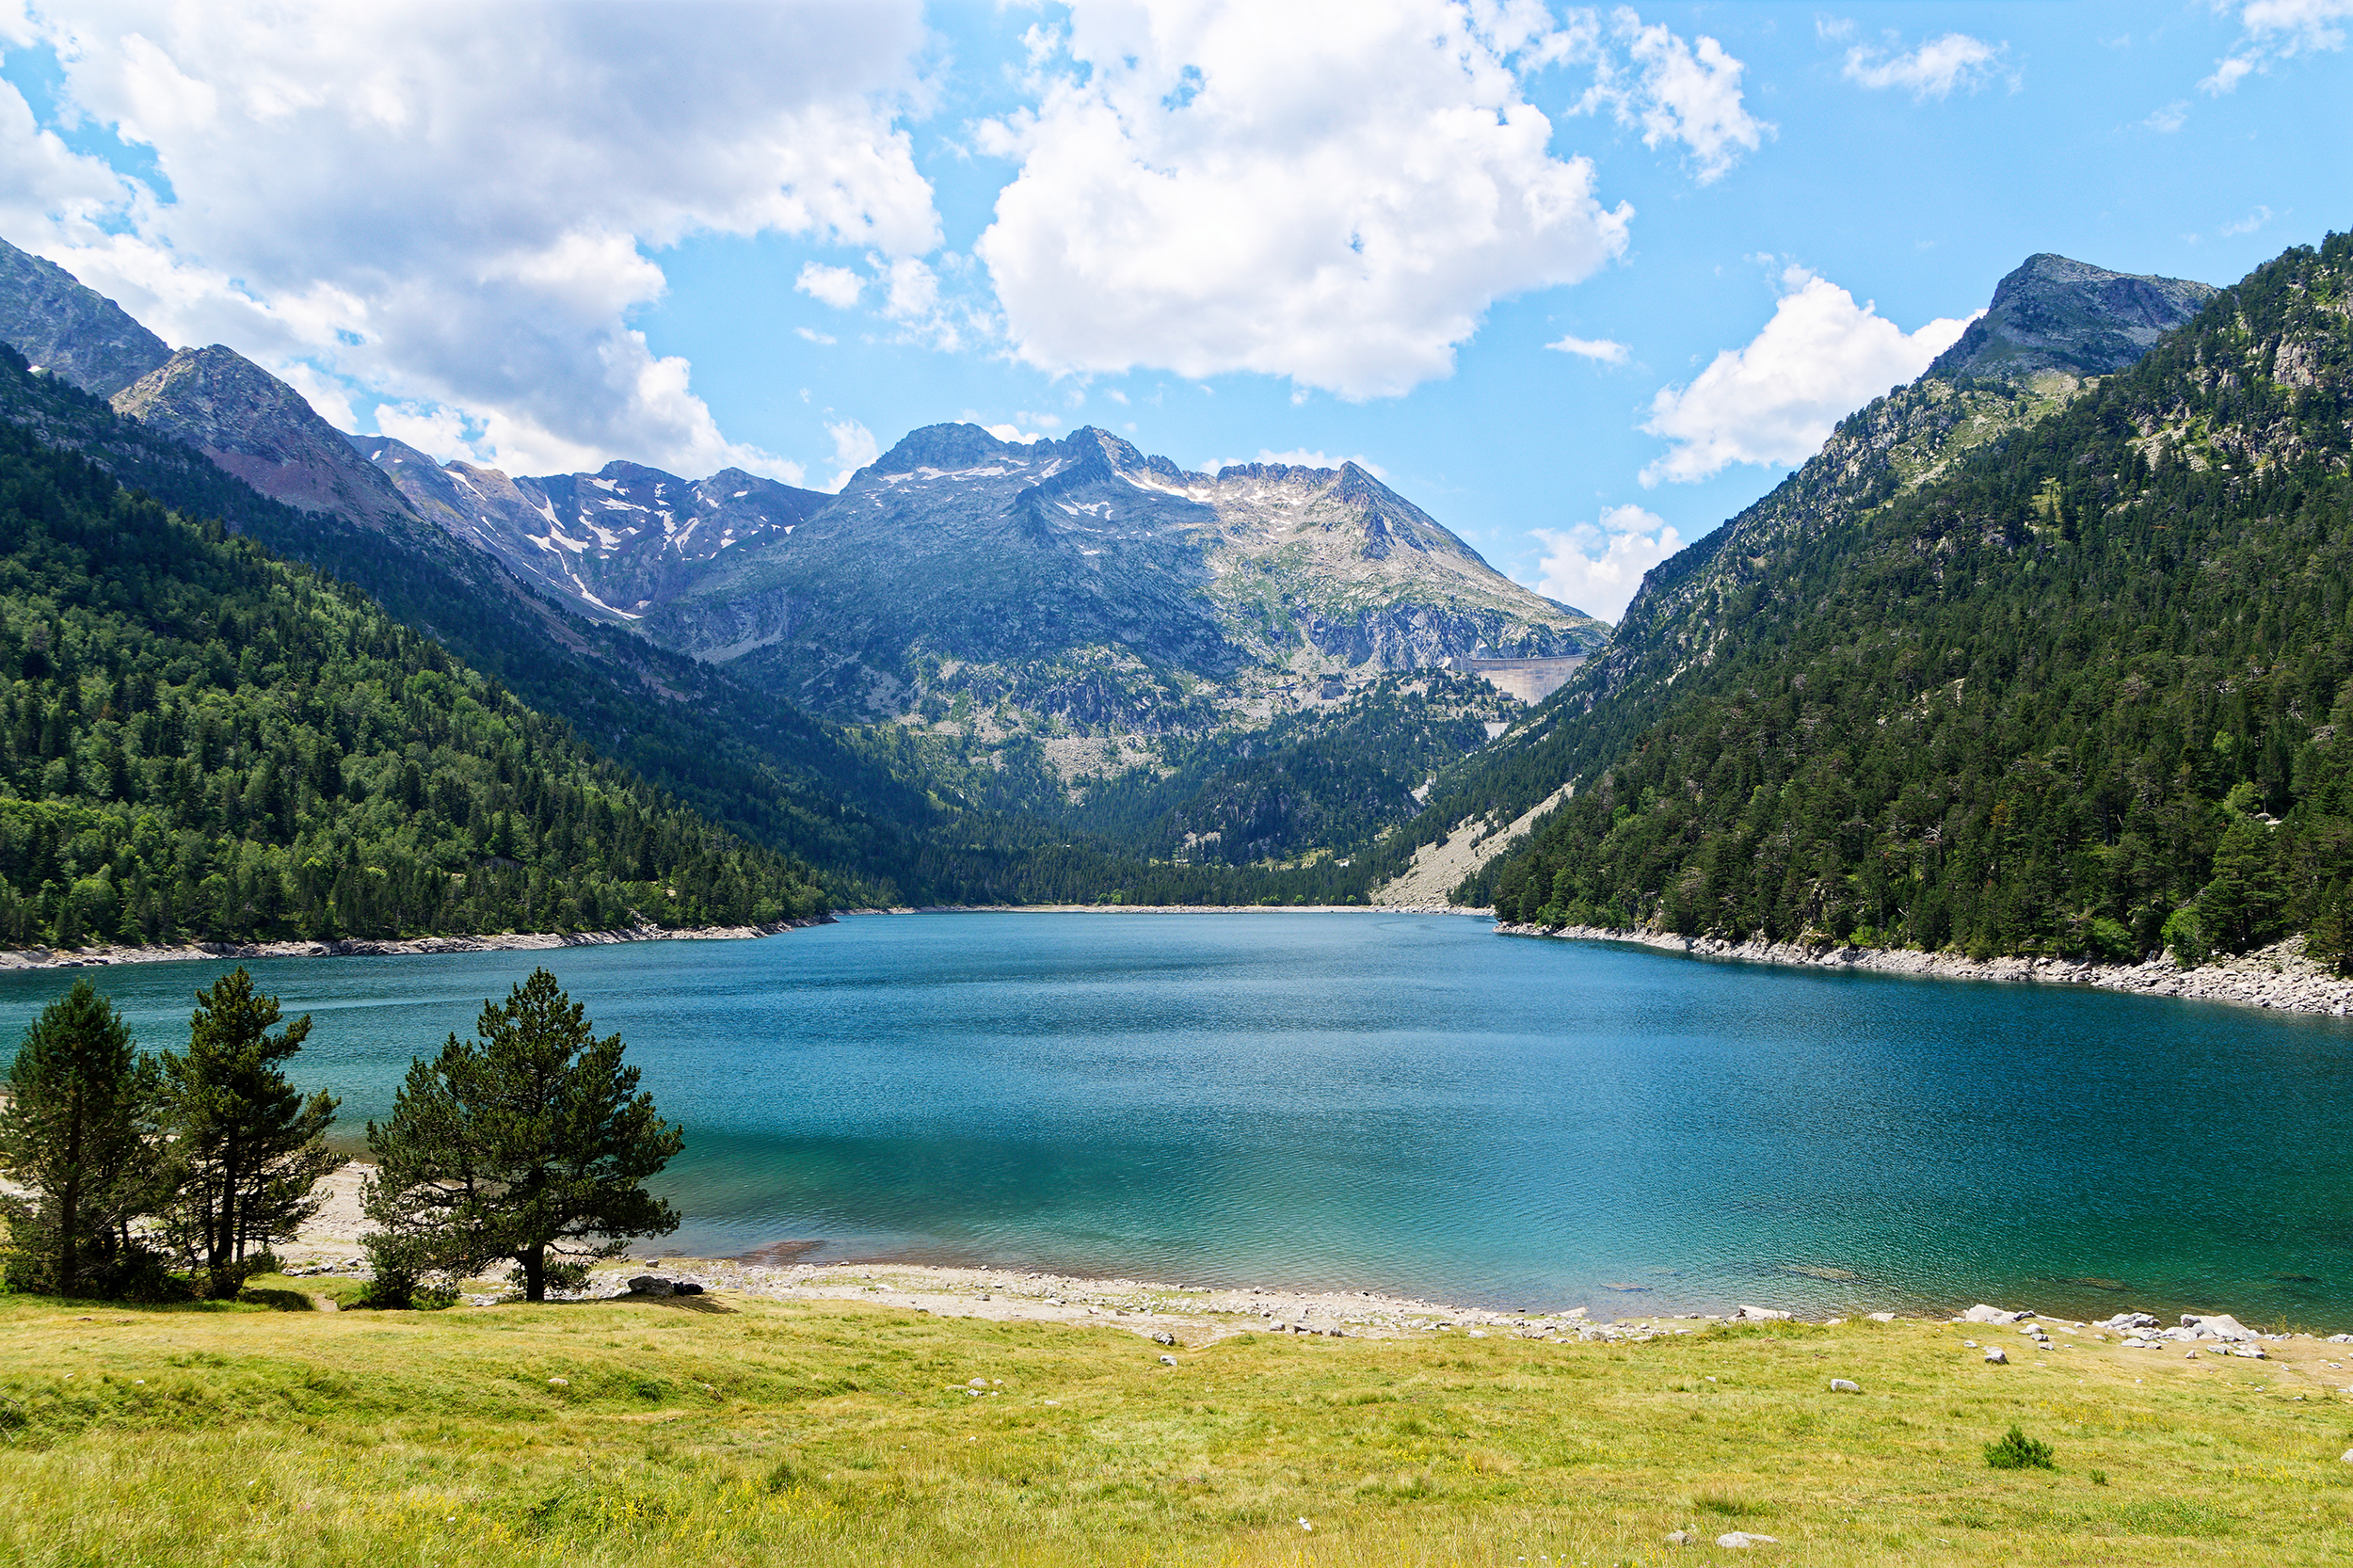
<path fill-rule="evenodd" d="M 682 480 L 612 461 L 598 473 L 508 478 L 438 464 L 388 436 L 351 445 L 449 534 L 595 619 L 631 622 L 736 546 L 784 539 L 833 497 L 741 469 Z"/>

